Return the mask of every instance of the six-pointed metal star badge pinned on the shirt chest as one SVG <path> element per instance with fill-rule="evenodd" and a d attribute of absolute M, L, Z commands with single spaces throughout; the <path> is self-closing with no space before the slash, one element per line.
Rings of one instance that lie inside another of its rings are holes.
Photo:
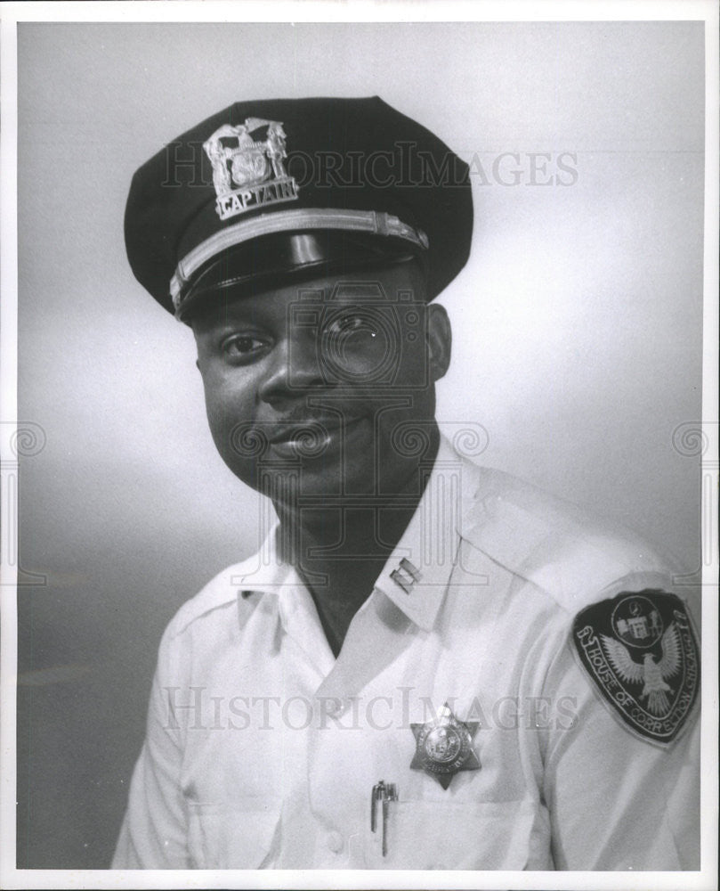
<path fill-rule="evenodd" d="M 480 761 L 473 749 L 473 736 L 479 721 L 458 721 L 446 702 L 440 715 L 424 724 L 411 723 L 416 750 L 410 767 L 434 777 L 443 789 L 460 771 L 480 770 Z"/>

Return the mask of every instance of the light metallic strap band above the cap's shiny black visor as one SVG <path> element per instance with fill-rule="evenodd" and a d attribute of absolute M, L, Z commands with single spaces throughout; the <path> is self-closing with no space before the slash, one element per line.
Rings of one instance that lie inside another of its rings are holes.
<path fill-rule="evenodd" d="M 182 257 L 170 280 L 170 296 L 173 298 L 175 310 L 180 308 L 182 289 L 190 282 L 193 274 L 222 250 L 242 244 L 243 241 L 251 241 L 261 235 L 311 229 L 335 229 L 384 235 L 409 241 L 423 250 L 429 245 L 427 235 L 422 229 L 416 229 L 403 223 L 398 217 L 376 210 L 305 208 L 265 214 L 222 229 Z"/>

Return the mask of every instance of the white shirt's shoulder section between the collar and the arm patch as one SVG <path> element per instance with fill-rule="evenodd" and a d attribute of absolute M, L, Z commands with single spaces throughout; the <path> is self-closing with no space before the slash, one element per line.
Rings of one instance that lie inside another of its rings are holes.
<path fill-rule="evenodd" d="M 562 612 L 672 584 L 674 568 L 630 530 L 505 471 L 476 471 L 461 535 Z"/>

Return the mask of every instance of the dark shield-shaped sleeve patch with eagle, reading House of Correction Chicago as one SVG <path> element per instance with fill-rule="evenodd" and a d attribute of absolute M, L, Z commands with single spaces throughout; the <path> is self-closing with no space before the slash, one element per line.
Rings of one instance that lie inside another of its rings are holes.
<path fill-rule="evenodd" d="M 572 639 L 603 699 L 643 740 L 676 739 L 700 689 L 700 651 L 676 594 L 622 592 L 578 613 Z"/>

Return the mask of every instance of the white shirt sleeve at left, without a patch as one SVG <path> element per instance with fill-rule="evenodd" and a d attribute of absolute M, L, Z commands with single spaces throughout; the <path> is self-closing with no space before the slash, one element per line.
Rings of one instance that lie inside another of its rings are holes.
<path fill-rule="evenodd" d="M 115 870 L 189 866 L 181 784 L 181 728 L 170 708 L 168 694 L 173 689 L 170 650 L 166 634 L 150 693 L 146 739 L 133 772 L 125 819 L 112 860 Z"/>

